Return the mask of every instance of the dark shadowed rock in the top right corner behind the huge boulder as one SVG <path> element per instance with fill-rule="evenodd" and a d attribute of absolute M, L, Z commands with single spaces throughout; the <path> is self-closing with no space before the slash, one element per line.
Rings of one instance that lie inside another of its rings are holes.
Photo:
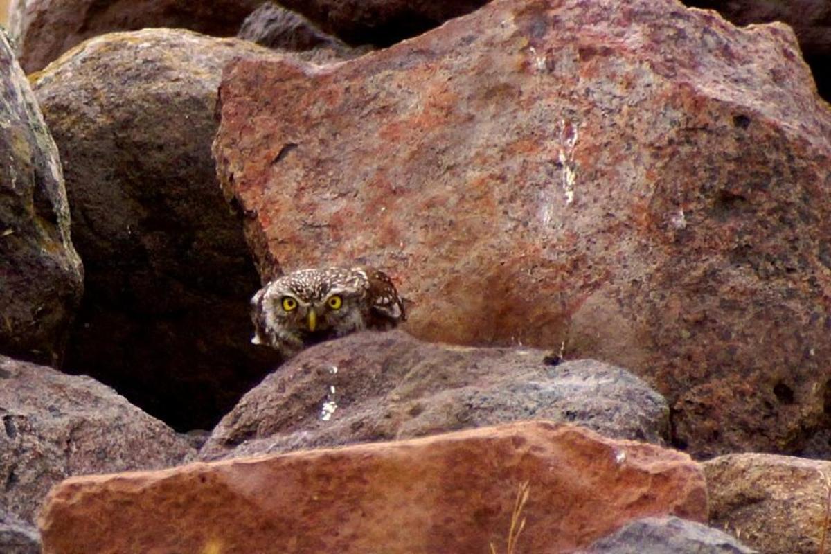
<path fill-rule="evenodd" d="M 831 101 L 831 2 L 828 0 L 683 0 L 718 10 L 737 25 L 781 21 L 794 28 L 799 47 L 814 71 L 819 92 Z"/>

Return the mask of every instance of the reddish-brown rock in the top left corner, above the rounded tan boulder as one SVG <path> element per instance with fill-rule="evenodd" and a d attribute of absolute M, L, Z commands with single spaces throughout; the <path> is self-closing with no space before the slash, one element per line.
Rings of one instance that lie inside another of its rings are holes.
<path fill-rule="evenodd" d="M 236 34 L 263 0 L 13 0 L 8 26 L 27 73 L 42 69 L 90 37 L 145 27 Z"/>

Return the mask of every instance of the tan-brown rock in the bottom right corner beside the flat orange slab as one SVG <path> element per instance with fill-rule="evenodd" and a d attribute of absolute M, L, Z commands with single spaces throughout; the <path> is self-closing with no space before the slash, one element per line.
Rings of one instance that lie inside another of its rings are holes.
<path fill-rule="evenodd" d="M 765 554 L 822 552 L 823 534 L 831 532 L 831 462 L 745 453 L 703 467 L 711 525 Z"/>

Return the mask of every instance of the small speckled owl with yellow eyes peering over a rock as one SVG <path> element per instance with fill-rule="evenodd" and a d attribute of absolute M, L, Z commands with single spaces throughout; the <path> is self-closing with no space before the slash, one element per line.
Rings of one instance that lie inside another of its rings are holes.
<path fill-rule="evenodd" d="M 390 277 L 371 267 L 301 269 L 261 288 L 251 307 L 251 341 L 272 346 L 285 358 L 337 336 L 406 321 Z"/>

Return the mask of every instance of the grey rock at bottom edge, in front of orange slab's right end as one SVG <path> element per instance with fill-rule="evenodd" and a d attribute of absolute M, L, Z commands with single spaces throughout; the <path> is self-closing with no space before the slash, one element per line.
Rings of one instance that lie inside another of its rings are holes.
<path fill-rule="evenodd" d="M 718 529 L 680 517 L 644 517 L 603 537 L 586 554 L 753 554 Z"/>

